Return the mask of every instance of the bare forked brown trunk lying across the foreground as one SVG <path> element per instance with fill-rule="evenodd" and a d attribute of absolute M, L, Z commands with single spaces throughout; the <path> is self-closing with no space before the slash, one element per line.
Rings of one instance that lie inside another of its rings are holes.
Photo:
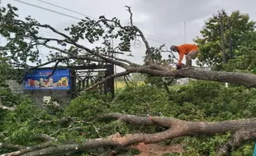
<path fill-rule="evenodd" d="M 168 129 L 154 134 L 126 134 L 119 133 L 107 136 L 105 138 L 89 139 L 83 144 L 55 145 L 49 141 L 55 140 L 47 135 L 42 135 L 48 142 L 33 147 L 24 147 L 21 145 L 6 145 L 1 143 L 3 149 L 18 149 L 15 152 L 2 155 L 49 155 L 49 154 L 67 154 L 87 149 L 95 149 L 99 147 L 127 147 L 136 143 L 153 144 L 164 140 L 172 140 L 173 138 L 193 135 L 215 135 L 230 132 L 234 135 L 227 145 L 220 146 L 216 149 L 218 155 L 228 154 L 231 150 L 235 150 L 242 143 L 242 140 L 256 139 L 256 118 L 231 120 L 224 122 L 186 122 L 171 117 L 138 117 L 135 115 L 125 115 L 120 113 L 104 114 L 100 118 L 116 119 L 121 122 L 129 122 L 130 124 L 140 126 L 164 126 Z"/>

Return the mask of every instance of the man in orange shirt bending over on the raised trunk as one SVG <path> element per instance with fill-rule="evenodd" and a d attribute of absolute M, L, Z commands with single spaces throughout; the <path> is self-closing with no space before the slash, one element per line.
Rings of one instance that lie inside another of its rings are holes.
<path fill-rule="evenodd" d="M 171 50 L 174 52 L 178 52 L 179 58 L 177 69 L 181 69 L 184 55 L 186 55 L 186 66 L 192 67 L 192 57 L 197 54 L 198 47 L 196 44 L 182 44 L 179 46 L 172 45 Z"/>

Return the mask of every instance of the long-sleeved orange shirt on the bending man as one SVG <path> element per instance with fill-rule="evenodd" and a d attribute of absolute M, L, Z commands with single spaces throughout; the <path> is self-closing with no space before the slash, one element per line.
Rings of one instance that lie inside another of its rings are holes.
<path fill-rule="evenodd" d="M 195 44 L 182 44 L 177 46 L 178 48 L 178 65 L 182 64 L 184 54 L 189 53 L 190 51 L 198 51 L 198 47 Z"/>

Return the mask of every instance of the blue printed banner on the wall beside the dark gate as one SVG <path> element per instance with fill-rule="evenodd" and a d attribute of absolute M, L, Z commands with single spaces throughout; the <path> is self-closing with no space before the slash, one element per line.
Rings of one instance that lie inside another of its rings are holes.
<path fill-rule="evenodd" d="M 24 89 L 70 89 L 70 70 L 56 69 L 53 76 L 53 69 L 36 69 L 26 74 Z M 50 77 L 48 77 L 50 76 Z M 48 77 L 48 79 L 46 79 Z"/>

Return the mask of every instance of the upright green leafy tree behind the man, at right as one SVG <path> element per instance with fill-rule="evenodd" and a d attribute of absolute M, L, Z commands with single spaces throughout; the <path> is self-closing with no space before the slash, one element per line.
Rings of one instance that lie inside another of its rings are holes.
<path fill-rule="evenodd" d="M 233 11 L 228 15 L 224 10 L 218 11 L 206 21 L 201 32 L 202 37 L 194 39 L 200 47 L 198 65 L 220 67 L 222 65 L 222 49 L 220 34 L 220 16 L 224 25 L 225 57 L 227 62 L 244 54 L 240 47 L 255 42 L 248 40 L 248 35 L 254 33 L 255 21 L 250 21 L 248 14 Z"/>

